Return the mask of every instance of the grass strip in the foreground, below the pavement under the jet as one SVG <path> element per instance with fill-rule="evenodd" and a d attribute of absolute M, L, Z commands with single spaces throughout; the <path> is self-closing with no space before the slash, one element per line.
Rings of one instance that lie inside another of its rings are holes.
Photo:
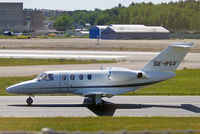
<path fill-rule="evenodd" d="M 0 131 L 128 131 L 199 129 L 200 117 L 50 117 L 0 118 Z"/>

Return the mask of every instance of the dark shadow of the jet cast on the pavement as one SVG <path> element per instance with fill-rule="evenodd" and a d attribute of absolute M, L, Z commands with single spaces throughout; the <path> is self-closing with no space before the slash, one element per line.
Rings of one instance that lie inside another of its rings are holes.
<path fill-rule="evenodd" d="M 150 105 L 150 104 L 115 104 L 105 101 L 104 106 L 94 105 L 90 99 L 85 98 L 83 104 L 34 104 L 32 106 L 28 105 L 8 105 L 17 107 L 87 107 L 97 116 L 113 116 L 117 109 L 142 109 L 142 108 L 176 108 L 184 109 L 194 113 L 200 113 L 200 108 L 192 104 L 181 104 L 181 106 L 174 105 Z"/>

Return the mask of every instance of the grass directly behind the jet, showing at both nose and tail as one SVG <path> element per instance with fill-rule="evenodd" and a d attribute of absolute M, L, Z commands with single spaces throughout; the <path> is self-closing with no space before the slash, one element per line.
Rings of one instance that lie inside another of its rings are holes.
<path fill-rule="evenodd" d="M 124 95 L 200 95 L 200 69 L 178 70 L 176 74 L 170 80 Z M 6 87 L 35 77 L 0 77 L 0 95 L 10 95 L 5 92 Z"/>

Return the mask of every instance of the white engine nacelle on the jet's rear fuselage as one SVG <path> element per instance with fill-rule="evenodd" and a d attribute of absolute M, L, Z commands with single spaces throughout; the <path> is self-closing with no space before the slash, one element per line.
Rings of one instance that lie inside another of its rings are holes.
<path fill-rule="evenodd" d="M 143 74 L 138 72 L 110 71 L 109 79 L 112 81 L 130 81 L 142 77 Z"/>

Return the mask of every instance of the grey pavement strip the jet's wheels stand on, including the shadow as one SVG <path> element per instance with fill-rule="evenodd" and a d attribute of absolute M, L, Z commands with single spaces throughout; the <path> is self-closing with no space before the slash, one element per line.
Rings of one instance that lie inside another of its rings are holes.
<path fill-rule="evenodd" d="M 0 97 L 1 117 L 88 117 L 88 116 L 200 116 L 200 96 L 115 96 L 96 107 L 79 96 L 36 96 L 27 106 L 26 96 Z"/>

